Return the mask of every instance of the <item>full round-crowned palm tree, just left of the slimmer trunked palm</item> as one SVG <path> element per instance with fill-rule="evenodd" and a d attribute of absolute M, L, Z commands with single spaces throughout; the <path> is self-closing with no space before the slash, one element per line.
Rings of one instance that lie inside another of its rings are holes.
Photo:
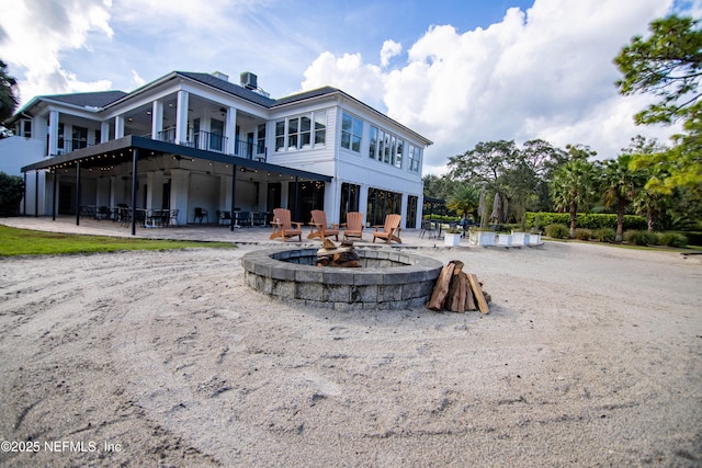
<path fill-rule="evenodd" d="M 586 207 L 592 197 L 595 180 L 595 164 L 576 158 L 558 168 L 551 181 L 551 196 L 556 209 L 570 213 L 570 238 L 575 238 L 578 209 Z"/>

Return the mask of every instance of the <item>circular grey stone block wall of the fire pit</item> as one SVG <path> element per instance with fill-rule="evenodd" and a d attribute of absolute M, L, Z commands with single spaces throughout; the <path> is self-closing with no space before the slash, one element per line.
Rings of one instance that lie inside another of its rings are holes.
<path fill-rule="evenodd" d="M 443 263 L 390 250 L 356 250 L 360 269 L 316 266 L 317 249 L 265 249 L 241 259 L 246 283 L 304 306 L 339 310 L 423 306 Z"/>

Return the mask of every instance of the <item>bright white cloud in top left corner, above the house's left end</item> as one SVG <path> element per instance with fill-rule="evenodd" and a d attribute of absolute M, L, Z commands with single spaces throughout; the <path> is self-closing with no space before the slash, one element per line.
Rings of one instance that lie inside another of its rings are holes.
<path fill-rule="evenodd" d="M 0 56 L 22 72 L 15 75 L 22 102 L 36 94 L 110 88 L 109 80 L 80 81 L 63 68 L 60 56 L 87 47 L 91 33 L 112 37 L 111 4 L 111 0 L 26 0 L 3 10 Z"/>

